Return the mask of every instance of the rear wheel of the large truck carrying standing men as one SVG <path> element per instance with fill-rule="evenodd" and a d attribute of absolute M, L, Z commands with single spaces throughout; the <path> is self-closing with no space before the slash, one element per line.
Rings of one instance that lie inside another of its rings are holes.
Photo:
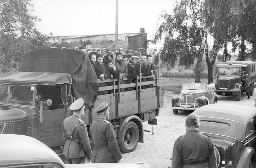
<path fill-rule="evenodd" d="M 139 128 L 135 122 L 129 121 L 122 130 L 121 133 L 121 144 L 119 148 L 122 153 L 129 153 L 134 151 L 139 141 Z"/>

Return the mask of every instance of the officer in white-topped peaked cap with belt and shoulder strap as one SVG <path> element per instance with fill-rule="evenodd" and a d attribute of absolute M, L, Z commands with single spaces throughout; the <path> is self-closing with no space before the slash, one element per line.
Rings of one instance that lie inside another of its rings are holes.
<path fill-rule="evenodd" d="M 69 164 L 84 163 L 87 156 L 91 159 L 92 150 L 85 123 L 81 117 L 84 115 L 84 101 L 77 99 L 69 106 L 73 115 L 65 118 L 62 124 L 63 140 L 65 142 L 63 154 L 68 158 Z"/>

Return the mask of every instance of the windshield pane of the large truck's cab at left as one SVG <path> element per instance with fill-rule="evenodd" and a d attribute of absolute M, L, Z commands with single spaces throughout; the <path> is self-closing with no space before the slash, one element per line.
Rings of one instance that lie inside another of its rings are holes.
<path fill-rule="evenodd" d="M 34 89 L 30 86 L 10 86 L 9 104 L 33 105 Z"/>

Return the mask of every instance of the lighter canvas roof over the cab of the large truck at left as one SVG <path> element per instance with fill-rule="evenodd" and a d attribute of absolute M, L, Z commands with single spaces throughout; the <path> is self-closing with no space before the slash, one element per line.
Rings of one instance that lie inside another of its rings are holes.
<path fill-rule="evenodd" d="M 8 72 L 0 75 L 1 84 L 22 85 L 57 85 L 71 84 L 71 76 L 66 73 L 41 73 L 41 72 Z"/>

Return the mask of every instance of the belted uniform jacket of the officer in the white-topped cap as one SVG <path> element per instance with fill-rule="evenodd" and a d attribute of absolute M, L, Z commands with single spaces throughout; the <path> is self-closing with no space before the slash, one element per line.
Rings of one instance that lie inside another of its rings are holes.
<path fill-rule="evenodd" d="M 68 135 L 72 135 L 73 130 L 78 123 L 79 125 L 75 130 L 73 137 L 82 140 L 83 148 L 86 151 L 87 157 L 88 159 L 91 159 L 92 151 L 86 125 L 81 118 L 75 115 L 65 118 L 62 124 L 63 140 L 65 142 L 63 154 L 66 158 L 81 158 L 86 156 L 76 140 L 70 141 L 67 139 Z"/>

